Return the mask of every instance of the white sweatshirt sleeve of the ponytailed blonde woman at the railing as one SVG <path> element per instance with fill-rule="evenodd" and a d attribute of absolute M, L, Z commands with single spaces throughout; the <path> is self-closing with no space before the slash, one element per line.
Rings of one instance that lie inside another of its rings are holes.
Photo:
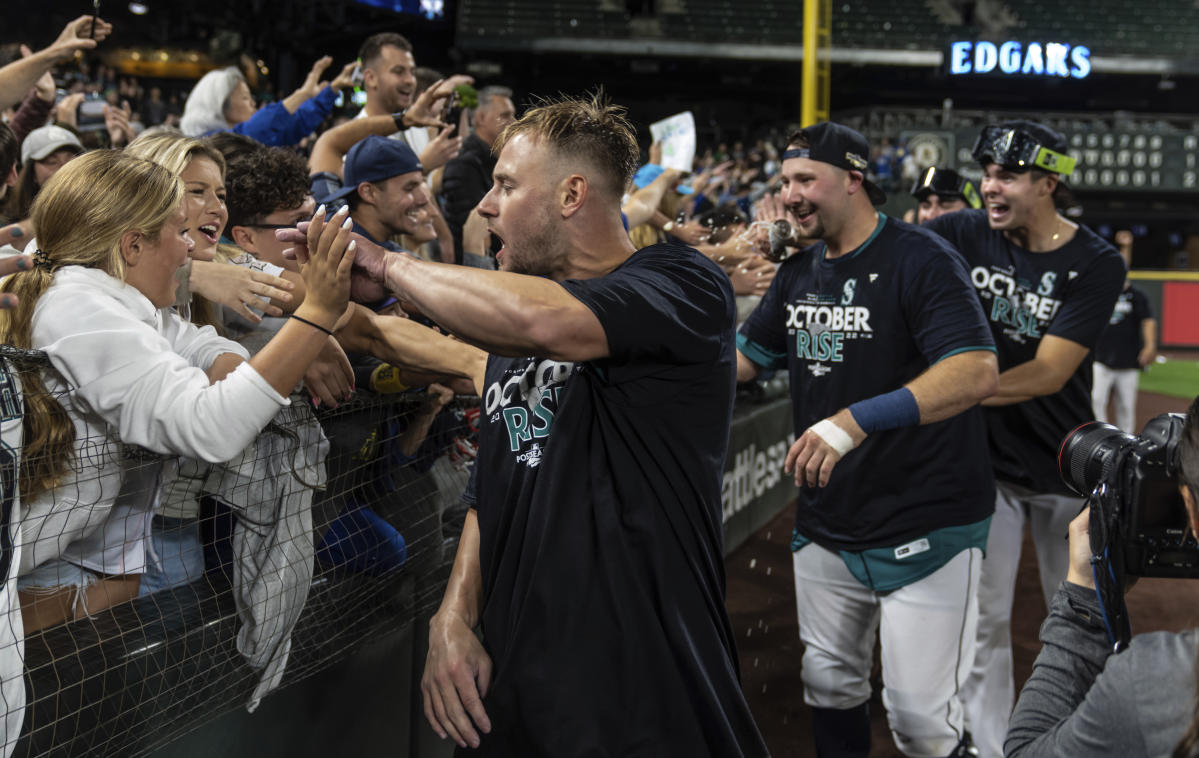
<path fill-rule="evenodd" d="M 249 445 L 288 404 L 249 363 L 210 385 L 191 360 L 245 355 L 215 333 L 191 324 L 165 330 L 185 357 L 164 335 L 119 306 L 83 303 L 86 319 L 77 318 L 79 306 L 43 295 L 34 344 L 44 345 L 76 398 L 115 427 L 123 443 L 219 463 Z"/>

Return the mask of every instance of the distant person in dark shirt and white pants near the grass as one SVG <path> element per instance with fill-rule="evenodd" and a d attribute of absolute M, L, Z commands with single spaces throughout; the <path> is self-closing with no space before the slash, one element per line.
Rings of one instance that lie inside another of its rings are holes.
<path fill-rule="evenodd" d="M 1116 231 L 1120 255 L 1132 266 L 1132 233 Z M 1095 345 L 1095 381 L 1091 409 L 1097 421 L 1108 420 L 1108 398 L 1115 398 L 1117 427 L 1135 434 L 1137 391 L 1140 372 L 1157 357 L 1157 320 L 1149 297 L 1125 279 L 1115 311 Z"/>

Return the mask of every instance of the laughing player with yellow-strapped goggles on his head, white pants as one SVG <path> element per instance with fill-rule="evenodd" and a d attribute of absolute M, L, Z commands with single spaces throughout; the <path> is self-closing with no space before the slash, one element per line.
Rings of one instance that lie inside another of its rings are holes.
<path fill-rule="evenodd" d="M 1091 359 L 1123 285 L 1115 248 L 1058 212 L 1074 169 L 1066 138 L 1032 121 L 982 130 L 982 210 L 928 228 L 965 257 L 999 348 L 999 393 L 983 405 L 996 485 L 978 586 L 978 645 L 964 690 L 975 742 L 1002 756 L 1014 703 L 1011 613 L 1024 523 L 1037 548 L 1046 602 L 1066 577 L 1062 537 L 1081 501 L 1058 475 L 1061 439 L 1093 419 Z"/>

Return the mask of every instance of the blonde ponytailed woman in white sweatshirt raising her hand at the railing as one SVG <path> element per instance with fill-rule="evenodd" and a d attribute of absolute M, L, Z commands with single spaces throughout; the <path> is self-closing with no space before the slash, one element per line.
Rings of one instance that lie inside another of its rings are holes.
<path fill-rule="evenodd" d="M 318 212 L 307 297 L 258 355 L 181 319 L 170 305 L 193 246 L 183 197 L 183 182 L 150 161 L 80 156 L 34 204 L 34 269 L 0 284 L 18 296 L 0 341 L 44 350 L 52 366 L 20 374 L 14 553 L 26 633 L 137 595 L 163 464 L 137 462 L 132 446 L 235 456 L 288 404 L 347 308 L 349 224 Z"/>

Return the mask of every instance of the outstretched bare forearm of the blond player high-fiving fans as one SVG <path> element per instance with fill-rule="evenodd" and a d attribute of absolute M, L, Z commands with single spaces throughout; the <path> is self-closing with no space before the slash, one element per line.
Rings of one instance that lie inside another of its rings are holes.
<path fill-rule="evenodd" d="M 562 350 L 592 351 L 590 324 L 580 315 L 595 317 L 549 279 L 392 253 L 384 281 L 442 327 L 488 353 L 573 360 Z"/>

